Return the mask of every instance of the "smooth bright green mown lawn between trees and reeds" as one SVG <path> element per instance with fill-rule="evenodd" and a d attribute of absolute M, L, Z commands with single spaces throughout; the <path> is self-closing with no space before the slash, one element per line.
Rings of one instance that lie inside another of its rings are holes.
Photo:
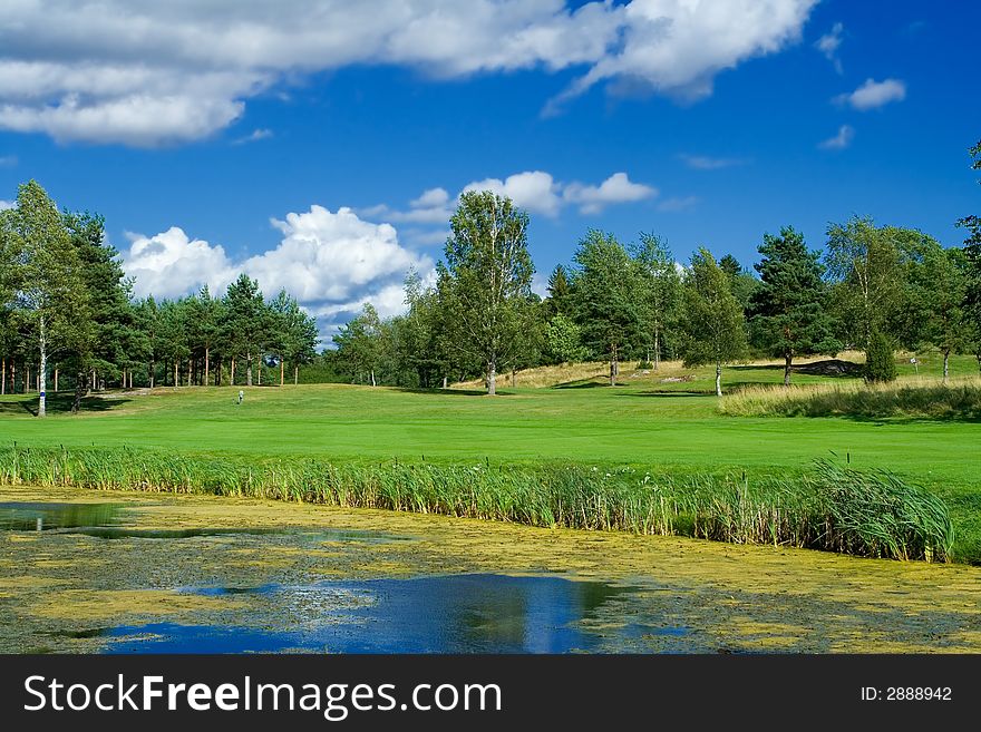
<path fill-rule="evenodd" d="M 924 359 L 924 361 L 927 361 Z M 971 373 L 973 359 L 954 360 Z M 925 362 L 921 375 L 936 364 Z M 901 372 L 912 374 L 904 364 Z M 616 388 L 517 389 L 496 398 L 347 385 L 163 389 L 96 398 L 91 411 L 31 416 L 33 394 L 0 398 L 0 445 L 150 448 L 175 456 L 387 461 L 441 465 L 644 467 L 679 477 L 799 475 L 836 453 L 861 469 L 890 469 L 950 507 L 954 555 L 981 562 L 981 423 L 968 420 L 732 418 L 718 413 L 709 370 L 690 382 L 638 380 Z M 778 368 L 727 368 L 723 385 L 776 383 Z M 627 373 L 622 375 L 629 381 Z M 839 382 L 807 379 L 795 382 Z M 56 407 L 67 406 L 59 396 Z"/>

